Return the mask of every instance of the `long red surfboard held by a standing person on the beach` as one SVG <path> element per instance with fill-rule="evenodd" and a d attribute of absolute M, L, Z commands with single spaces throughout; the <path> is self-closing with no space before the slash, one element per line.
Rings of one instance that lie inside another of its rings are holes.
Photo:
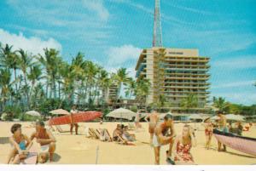
<path fill-rule="evenodd" d="M 73 114 L 73 123 L 83 123 L 102 117 L 101 111 L 79 111 Z M 71 116 L 54 117 L 49 119 L 49 125 L 65 125 L 71 123 Z"/>

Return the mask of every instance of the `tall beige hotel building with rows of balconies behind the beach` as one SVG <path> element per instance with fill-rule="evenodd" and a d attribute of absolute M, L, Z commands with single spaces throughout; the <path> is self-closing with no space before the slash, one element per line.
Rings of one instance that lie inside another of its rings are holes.
<path fill-rule="evenodd" d="M 136 77 L 150 80 L 147 104 L 156 103 L 159 95 L 166 97 L 173 112 L 184 112 L 183 99 L 194 94 L 198 106 L 192 110 L 204 112 L 209 92 L 209 58 L 199 56 L 198 49 L 146 48 L 137 60 Z"/>

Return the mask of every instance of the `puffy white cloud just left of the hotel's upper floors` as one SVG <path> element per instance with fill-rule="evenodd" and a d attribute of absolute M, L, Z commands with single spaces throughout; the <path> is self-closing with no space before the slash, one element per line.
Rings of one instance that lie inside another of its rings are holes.
<path fill-rule="evenodd" d="M 133 45 L 123 45 L 120 47 L 111 47 L 108 49 L 108 66 L 127 66 L 125 62 L 137 60 L 142 49 Z"/>

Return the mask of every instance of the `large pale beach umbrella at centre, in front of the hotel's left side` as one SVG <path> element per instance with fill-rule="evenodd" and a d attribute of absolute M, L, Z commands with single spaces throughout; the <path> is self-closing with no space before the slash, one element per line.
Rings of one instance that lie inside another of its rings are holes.
<path fill-rule="evenodd" d="M 133 117 L 136 117 L 137 113 L 130 111 L 128 109 L 119 108 L 108 113 L 107 117 L 119 118 L 132 120 Z"/>

